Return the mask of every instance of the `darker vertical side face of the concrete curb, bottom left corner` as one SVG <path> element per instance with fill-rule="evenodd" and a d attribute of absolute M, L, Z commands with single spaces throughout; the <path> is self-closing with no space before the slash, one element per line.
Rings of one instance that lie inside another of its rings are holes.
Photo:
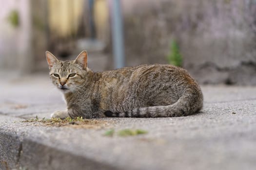
<path fill-rule="evenodd" d="M 0 129 L 0 170 L 118 170 L 71 152 Z"/>

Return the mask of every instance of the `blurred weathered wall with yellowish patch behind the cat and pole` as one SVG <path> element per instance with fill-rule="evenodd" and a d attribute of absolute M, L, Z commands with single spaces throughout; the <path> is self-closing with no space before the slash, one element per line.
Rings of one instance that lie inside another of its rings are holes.
<path fill-rule="evenodd" d="M 125 65 L 181 66 L 201 84 L 256 85 L 256 0 L 120 0 Z M 0 70 L 47 71 L 44 52 L 112 69 L 113 0 L 0 0 Z M 175 44 L 175 46 L 173 46 Z"/>

